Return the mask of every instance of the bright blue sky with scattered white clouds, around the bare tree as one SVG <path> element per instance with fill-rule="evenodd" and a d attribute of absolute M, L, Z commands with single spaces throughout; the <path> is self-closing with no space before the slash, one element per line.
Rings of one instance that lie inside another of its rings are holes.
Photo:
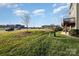
<path fill-rule="evenodd" d="M 68 17 L 66 3 L 0 3 L 0 24 L 23 24 L 19 15 L 30 15 L 29 26 L 61 25 L 62 18 Z"/>

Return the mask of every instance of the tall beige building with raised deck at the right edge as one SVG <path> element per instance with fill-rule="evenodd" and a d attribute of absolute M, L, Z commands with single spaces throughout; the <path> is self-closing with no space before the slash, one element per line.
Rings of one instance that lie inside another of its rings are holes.
<path fill-rule="evenodd" d="M 79 29 L 79 4 L 71 3 L 69 8 L 69 17 L 63 19 L 63 31 Z"/>

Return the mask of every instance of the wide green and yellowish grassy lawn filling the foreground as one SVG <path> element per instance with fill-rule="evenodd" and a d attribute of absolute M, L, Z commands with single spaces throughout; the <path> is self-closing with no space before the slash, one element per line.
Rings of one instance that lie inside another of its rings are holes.
<path fill-rule="evenodd" d="M 59 56 L 79 55 L 79 40 L 57 32 L 18 30 L 0 32 L 1 56 Z"/>

